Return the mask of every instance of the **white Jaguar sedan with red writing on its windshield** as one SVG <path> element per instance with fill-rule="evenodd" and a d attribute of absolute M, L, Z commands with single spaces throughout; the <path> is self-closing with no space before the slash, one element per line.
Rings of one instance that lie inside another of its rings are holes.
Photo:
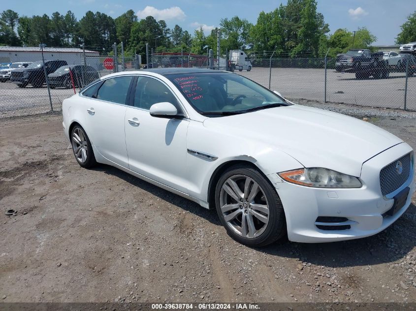
<path fill-rule="evenodd" d="M 65 99 L 63 116 L 81 167 L 112 165 L 216 208 L 228 234 L 250 246 L 286 234 L 369 236 L 396 221 L 415 191 L 406 142 L 234 73 L 111 74 Z"/>

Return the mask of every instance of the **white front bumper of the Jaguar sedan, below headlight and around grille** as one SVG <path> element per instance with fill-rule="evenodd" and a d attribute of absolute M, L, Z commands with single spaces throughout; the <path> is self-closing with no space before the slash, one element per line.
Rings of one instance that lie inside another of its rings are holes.
<path fill-rule="evenodd" d="M 288 238 L 294 242 L 319 243 L 351 240 L 374 235 L 394 223 L 410 206 L 415 191 L 414 168 L 401 188 L 410 192 L 404 206 L 393 216 L 385 213 L 393 198 L 384 198 L 380 189 L 380 170 L 403 155 L 413 152 L 400 143 L 366 161 L 361 170 L 363 183 L 357 189 L 322 189 L 299 186 L 267 175 L 276 188 L 285 209 Z M 348 221 L 344 230 L 323 230 L 316 226 L 318 217 L 342 217 Z"/>

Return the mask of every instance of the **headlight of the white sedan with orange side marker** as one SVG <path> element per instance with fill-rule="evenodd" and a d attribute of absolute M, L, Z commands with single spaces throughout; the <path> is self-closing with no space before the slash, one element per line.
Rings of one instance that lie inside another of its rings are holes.
<path fill-rule="evenodd" d="M 323 168 L 288 170 L 279 173 L 279 176 L 288 182 L 306 187 L 361 188 L 362 186 L 357 177 Z"/>

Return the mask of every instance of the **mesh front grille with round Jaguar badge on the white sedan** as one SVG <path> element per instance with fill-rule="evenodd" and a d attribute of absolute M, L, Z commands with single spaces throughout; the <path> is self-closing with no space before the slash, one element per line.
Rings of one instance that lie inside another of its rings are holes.
<path fill-rule="evenodd" d="M 410 153 L 393 161 L 380 171 L 380 187 L 383 196 L 399 189 L 410 175 Z"/>

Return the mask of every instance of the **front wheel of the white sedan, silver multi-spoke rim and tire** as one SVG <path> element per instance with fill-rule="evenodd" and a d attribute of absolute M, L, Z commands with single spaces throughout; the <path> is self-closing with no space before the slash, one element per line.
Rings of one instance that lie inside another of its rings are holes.
<path fill-rule="evenodd" d="M 282 202 L 258 170 L 244 165 L 229 168 L 217 183 L 215 198 L 221 223 L 236 241 L 261 247 L 286 236 Z"/>

